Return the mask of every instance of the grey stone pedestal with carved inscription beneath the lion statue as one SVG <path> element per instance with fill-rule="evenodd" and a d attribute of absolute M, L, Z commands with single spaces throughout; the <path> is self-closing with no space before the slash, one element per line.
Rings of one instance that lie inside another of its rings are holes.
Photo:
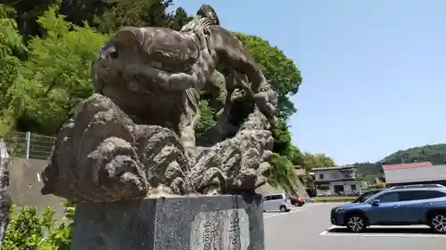
<path fill-rule="evenodd" d="M 72 250 L 264 250 L 260 195 L 81 203 Z"/>

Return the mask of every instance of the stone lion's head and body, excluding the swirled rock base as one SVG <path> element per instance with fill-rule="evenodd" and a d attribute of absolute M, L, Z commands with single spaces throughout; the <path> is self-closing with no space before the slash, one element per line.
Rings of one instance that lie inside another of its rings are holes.
<path fill-rule="evenodd" d="M 222 66 L 244 81 L 224 85 L 212 75 Z M 230 88 L 244 90 L 274 120 L 277 95 L 241 41 L 220 26 L 217 13 L 202 4 L 180 31 L 169 28 L 120 28 L 95 60 L 95 90 L 146 125 L 169 126 L 185 147 L 194 147 L 199 94 L 215 88 L 225 100 Z M 169 110 L 169 112 L 161 112 Z"/>

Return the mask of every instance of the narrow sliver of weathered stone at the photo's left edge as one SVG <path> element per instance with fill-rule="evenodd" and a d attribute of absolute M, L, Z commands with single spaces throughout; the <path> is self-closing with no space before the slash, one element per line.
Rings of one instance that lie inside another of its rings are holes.
<path fill-rule="evenodd" d="M 4 233 L 10 221 L 11 197 L 8 190 L 9 187 L 9 154 L 4 144 L 0 139 L 0 249 Z"/>

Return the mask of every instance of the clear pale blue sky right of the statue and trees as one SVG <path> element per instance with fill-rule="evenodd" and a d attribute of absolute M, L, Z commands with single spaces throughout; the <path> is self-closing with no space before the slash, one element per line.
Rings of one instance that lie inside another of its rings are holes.
<path fill-rule="evenodd" d="M 291 119 L 301 150 L 349 164 L 446 142 L 446 1 L 175 3 L 191 14 L 211 4 L 226 28 L 293 59 L 303 77 Z"/>

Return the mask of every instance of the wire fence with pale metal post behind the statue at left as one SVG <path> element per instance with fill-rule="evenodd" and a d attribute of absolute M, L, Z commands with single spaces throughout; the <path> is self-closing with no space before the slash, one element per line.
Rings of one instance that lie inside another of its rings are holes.
<path fill-rule="evenodd" d="M 53 149 L 55 138 L 30 132 L 14 132 L 4 137 L 12 157 L 47 159 Z"/>

